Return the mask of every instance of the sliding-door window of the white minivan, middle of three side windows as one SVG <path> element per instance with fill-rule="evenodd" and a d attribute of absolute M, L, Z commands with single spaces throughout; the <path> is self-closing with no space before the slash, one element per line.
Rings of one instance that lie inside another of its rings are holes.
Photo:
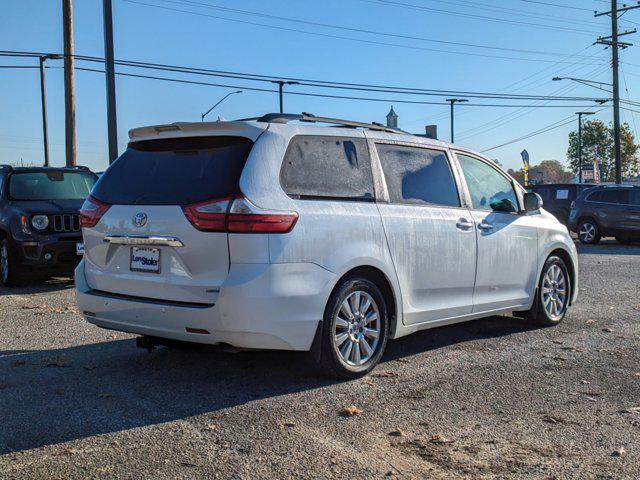
<path fill-rule="evenodd" d="M 376 145 L 392 203 L 459 207 L 460 198 L 443 152 L 400 145 Z"/>

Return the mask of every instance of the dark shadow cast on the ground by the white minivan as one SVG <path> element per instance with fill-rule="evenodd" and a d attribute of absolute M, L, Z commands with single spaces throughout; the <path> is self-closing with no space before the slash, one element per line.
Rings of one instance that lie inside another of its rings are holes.
<path fill-rule="evenodd" d="M 390 361 L 526 331 L 521 319 L 490 317 L 390 342 Z M 386 363 L 386 365 L 385 365 Z M 297 352 L 224 353 L 158 348 L 133 339 L 43 351 L 0 351 L 0 454 L 154 425 L 263 398 L 338 383 Z"/>

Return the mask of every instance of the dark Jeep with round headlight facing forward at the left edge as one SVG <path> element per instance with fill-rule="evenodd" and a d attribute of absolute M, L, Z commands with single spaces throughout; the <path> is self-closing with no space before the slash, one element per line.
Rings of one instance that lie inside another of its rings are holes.
<path fill-rule="evenodd" d="M 0 165 L 0 283 L 72 275 L 84 253 L 78 210 L 97 177 L 86 167 Z"/>

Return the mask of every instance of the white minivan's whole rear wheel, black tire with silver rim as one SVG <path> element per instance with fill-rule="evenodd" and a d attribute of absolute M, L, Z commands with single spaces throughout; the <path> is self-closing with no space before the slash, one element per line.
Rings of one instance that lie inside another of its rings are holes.
<path fill-rule="evenodd" d="M 341 379 L 366 375 L 384 354 L 388 330 L 387 302 L 376 284 L 362 277 L 346 279 L 325 308 L 321 369 Z"/>

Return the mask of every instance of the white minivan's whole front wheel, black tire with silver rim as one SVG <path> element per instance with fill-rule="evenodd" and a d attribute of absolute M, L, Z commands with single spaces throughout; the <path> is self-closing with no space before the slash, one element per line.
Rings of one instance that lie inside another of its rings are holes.
<path fill-rule="evenodd" d="M 559 324 L 567 314 L 571 299 L 571 277 L 560 257 L 550 256 L 542 268 L 533 306 L 526 318 L 541 326 Z"/>

